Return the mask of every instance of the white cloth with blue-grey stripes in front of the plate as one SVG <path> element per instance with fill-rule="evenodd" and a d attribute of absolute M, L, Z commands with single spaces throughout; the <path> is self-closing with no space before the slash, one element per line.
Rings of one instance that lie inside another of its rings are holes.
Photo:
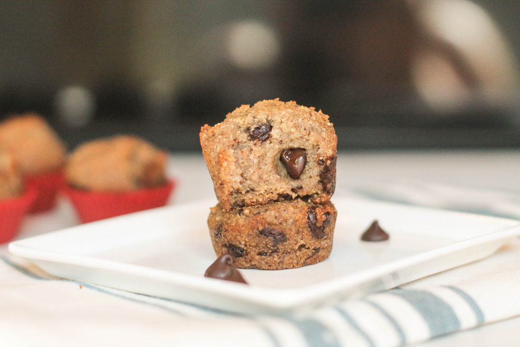
<path fill-rule="evenodd" d="M 520 315 L 518 240 L 401 288 L 287 316 L 229 314 L 53 278 L 0 254 L 2 346 L 399 346 Z"/>

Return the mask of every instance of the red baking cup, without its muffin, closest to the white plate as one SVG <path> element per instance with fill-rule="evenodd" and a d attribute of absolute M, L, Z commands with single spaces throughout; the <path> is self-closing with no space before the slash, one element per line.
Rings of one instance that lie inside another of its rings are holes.
<path fill-rule="evenodd" d="M 164 206 L 174 187 L 175 182 L 169 180 L 162 187 L 121 193 L 85 191 L 68 185 L 64 185 L 64 191 L 80 220 L 87 223 Z"/>

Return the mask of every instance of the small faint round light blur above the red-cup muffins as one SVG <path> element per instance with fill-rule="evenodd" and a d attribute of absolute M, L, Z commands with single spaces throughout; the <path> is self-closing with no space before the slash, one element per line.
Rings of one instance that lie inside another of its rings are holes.
<path fill-rule="evenodd" d="M 55 108 L 63 123 L 81 127 L 92 121 L 96 110 L 96 98 L 87 88 L 69 86 L 56 94 Z"/>

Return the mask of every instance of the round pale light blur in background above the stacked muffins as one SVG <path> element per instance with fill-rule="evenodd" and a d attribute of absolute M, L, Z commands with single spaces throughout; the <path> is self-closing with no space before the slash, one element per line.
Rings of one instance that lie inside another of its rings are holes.
<path fill-rule="evenodd" d="M 243 70 L 265 69 L 280 55 L 280 42 L 267 24 L 247 20 L 232 24 L 227 33 L 231 63 Z"/>

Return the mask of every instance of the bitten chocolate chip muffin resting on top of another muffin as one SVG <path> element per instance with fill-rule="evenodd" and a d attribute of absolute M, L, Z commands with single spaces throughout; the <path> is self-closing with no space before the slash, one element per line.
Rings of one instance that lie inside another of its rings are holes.
<path fill-rule="evenodd" d="M 204 125 L 200 142 L 226 211 L 296 198 L 324 203 L 334 193 L 337 137 L 314 108 L 278 99 L 243 105 Z"/>

